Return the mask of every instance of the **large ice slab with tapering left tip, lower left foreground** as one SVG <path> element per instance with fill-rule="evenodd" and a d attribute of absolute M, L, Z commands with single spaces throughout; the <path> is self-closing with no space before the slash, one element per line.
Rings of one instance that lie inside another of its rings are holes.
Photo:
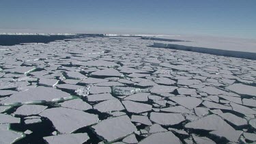
<path fill-rule="evenodd" d="M 46 109 L 40 115 L 50 119 L 53 126 L 63 134 L 74 132 L 79 128 L 98 122 L 98 115 L 68 108 Z"/>

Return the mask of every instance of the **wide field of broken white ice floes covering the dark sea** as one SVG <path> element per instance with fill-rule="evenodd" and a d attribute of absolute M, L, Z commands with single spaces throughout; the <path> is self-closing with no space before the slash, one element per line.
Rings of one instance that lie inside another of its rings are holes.
<path fill-rule="evenodd" d="M 255 61 L 150 44 L 86 35 L 4 46 L 1 126 L 33 131 L 28 143 L 255 142 Z M 22 135 L 2 133 L 10 143 Z"/>

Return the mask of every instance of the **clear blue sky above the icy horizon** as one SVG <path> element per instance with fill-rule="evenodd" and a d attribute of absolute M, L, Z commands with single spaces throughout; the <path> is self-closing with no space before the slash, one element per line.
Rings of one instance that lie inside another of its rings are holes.
<path fill-rule="evenodd" d="M 1 0 L 0 32 L 256 38 L 255 0 Z"/>

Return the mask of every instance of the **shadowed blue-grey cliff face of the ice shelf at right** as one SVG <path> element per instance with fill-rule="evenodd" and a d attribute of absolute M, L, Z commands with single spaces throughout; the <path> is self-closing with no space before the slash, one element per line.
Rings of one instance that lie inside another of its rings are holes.
<path fill-rule="evenodd" d="M 227 57 L 238 57 L 238 58 L 256 60 L 256 53 L 250 53 L 250 52 L 228 51 L 228 50 L 221 50 L 221 49 L 214 49 L 214 48 L 182 46 L 178 44 L 165 44 L 165 43 L 158 43 L 158 42 L 154 42 L 152 46 L 158 47 L 158 48 L 172 48 L 172 49 L 177 49 L 182 51 L 193 51 L 197 53 L 207 53 L 211 55 L 221 55 L 221 56 L 227 56 Z"/>

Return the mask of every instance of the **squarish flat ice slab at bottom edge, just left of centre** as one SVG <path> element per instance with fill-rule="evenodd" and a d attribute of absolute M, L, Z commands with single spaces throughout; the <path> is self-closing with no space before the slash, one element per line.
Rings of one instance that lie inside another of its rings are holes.
<path fill-rule="evenodd" d="M 122 139 L 137 130 L 127 115 L 105 119 L 92 126 L 92 128 L 94 128 L 96 134 L 102 136 L 108 142 Z"/>

